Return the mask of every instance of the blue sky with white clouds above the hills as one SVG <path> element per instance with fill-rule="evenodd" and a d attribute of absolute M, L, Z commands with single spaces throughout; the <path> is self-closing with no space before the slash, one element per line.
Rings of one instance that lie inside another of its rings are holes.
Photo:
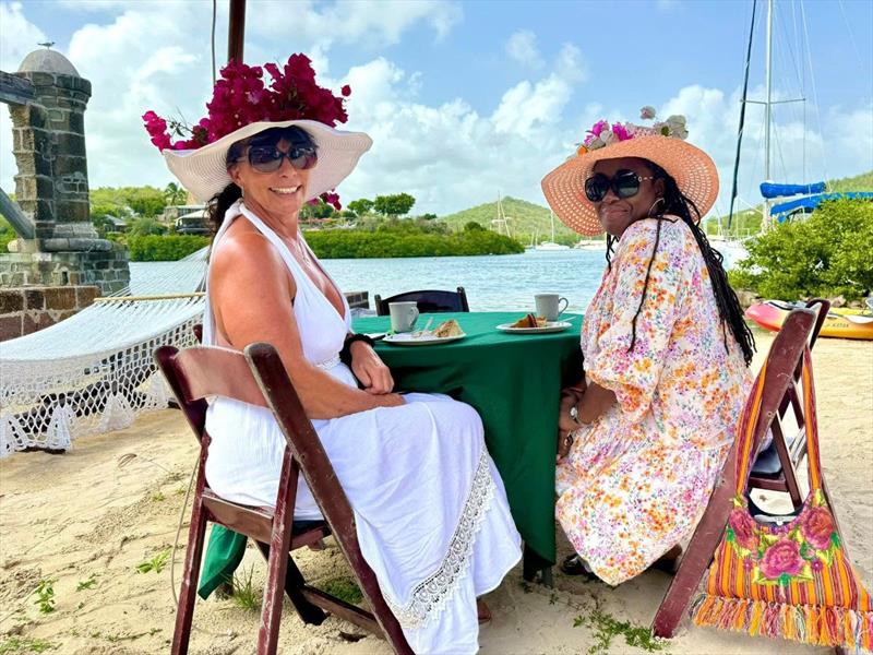
<path fill-rule="evenodd" d="M 227 53 L 217 0 L 216 63 Z M 0 70 L 39 41 L 93 85 L 85 114 L 92 188 L 172 181 L 141 116 L 205 116 L 211 0 L 0 0 Z M 449 214 L 498 194 L 545 204 L 540 179 L 601 118 L 687 119 L 716 162 L 726 216 L 752 0 L 314 2 L 249 0 L 244 60 L 306 52 L 318 81 L 352 90 L 345 129 L 374 141 L 344 202 L 411 193 L 412 213 Z M 766 2 L 758 1 L 750 99 L 765 97 Z M 770 178 L 802 182 L 873 169 L 873 2 L 776 0 Z M 789 102 L 804 97 L 805 102 Z M 749 105 L 740 206 L 764 179 L 764 110 Z M 0 186 L 14 191 L 9 111 Z"/>

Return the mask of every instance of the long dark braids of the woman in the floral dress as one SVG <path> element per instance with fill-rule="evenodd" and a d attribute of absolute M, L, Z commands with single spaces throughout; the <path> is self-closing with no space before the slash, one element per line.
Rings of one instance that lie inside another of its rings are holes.
<path fill-rule="evenodd" d="M 651 250 L 651 258 L 646 269 L 646 278 L 643 283 L 643 295 L 639 298 L 639 307 L 636 308 L 636 313 L 634 314 L 631 325 L 631 345 L 627 350 L 633 350 L 636 345 L 636 319 L 643 311 L 643 306 L 646 301 L 646 290 L 648 289 L 651 264 L 655 262 L 655 255 L 658 252 L 658 245 L 660 242 L 661 222 L 666 219 L 665 215 L 671 214 L 679 216 L 679 218 L 691 228 L 691 234 L 694 235 L 694 240 L 701 249 L 701 254 L 703 254 L 706 270 L 709 272 L 709 281 L 713 285 L 713 295 L 715 296 L 716 306 L 718 307 L 718 318 L 721 320 L 721 336 L 725 350 L 728 350 L 727 329 L 729 327 L 733 338 L 737 340 L 737 343 L 743 352 L 745 365 L 749 366 L 752 362 L 752 357 L 755 352 L 755 337 L 743 320 L 743 310 L 740 307 L 740 301 L 737 299 L 737 294 L 733 293 L 730 284 L 728 284 L 728 274 L 722 266 L 723 257 L 709 245 L 709 240 L 699 227 L 702 216 L 697 205 L 682 193 L 679 189 L 679 184 L 677 184 L 675 180 L 663 168 L 648 159 L 643 159 L 643 162 L 649 170 L 651 170 L 655 180 L 663 180 L 663 198 L 659 199 L 661 202 L 657 203 L 659 209 L 658 214 L 655 216 L 646 216 L 656 218 L 658 226 L 655 233 L 655 247 Z M 653 182 L 655 180 L 653 180 Z M 692 212 L 694 214 L 692 214 Z M 612 265 L 613 248 L 618 240 L 618 237 L 607 235 L 607 265 L 610 267 Z"/>

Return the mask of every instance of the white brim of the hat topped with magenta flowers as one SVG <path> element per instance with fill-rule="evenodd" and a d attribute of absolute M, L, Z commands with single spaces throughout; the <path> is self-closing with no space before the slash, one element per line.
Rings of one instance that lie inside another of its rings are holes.
<path fill-rule="evenodd" d="M 304 130 L 318 147 L 319 160 L 309 171 L 306 200 L 335 189 L 373 145 L 373 140 L 363 132 L 335 130 L 315 120 L 283 120 L 249 123 L 196 150 L 164 150 L 162 153 L 182 187 L 205 203 L 232 181 L 227 172 L 227 151 L 232 144 L 271 128 L 292 126 Z"/>

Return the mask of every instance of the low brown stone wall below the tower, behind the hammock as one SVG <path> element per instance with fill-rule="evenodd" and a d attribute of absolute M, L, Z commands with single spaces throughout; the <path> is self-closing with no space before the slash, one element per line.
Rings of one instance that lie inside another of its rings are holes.
<path fill-rule="evenodd" d="M 99 295 L 96 286 L 82 285 L 0 289 L 0 342 L 53 325 L 89 306 Z"/>

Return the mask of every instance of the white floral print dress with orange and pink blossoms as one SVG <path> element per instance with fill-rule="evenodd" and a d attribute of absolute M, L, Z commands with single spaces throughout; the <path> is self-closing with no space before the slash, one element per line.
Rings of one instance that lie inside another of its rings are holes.
<path fill-rule="evenodd" d="M 555 515 L 591 570 L 619 584 L 691 535 L 752 378 L 718 318 L 694 235 L 674 216 L 624 231 L 585 314 L 582 349 L 588 380 L 617 403 L 576 432 L 559 464 Z"/>

